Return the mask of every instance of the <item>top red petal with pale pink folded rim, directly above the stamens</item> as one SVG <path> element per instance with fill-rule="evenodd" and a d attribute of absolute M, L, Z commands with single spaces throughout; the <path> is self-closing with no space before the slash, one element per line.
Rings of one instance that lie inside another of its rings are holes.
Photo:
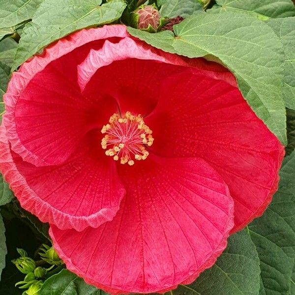
<path fill-rule="evenodd" d="M 128 37 L 118 43 L 106 41 L 98 50 L 91 49 L 78 66 L 78 81 L 87 96 L 97 95 L 99 89 L 118 101 L 121 113 L 146 116 L 158 101 L 163 81 L 190 66 L 235 83 L 219 64 L 165 53 Z"/>

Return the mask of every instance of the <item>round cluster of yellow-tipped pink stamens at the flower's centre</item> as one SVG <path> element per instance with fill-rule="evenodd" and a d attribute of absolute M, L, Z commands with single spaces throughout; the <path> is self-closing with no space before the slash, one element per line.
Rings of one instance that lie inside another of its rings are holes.
<path fill-rule="evenodd" d="M 130 166 L 134 165 L 134 159 L 145 160 L 148 157 L 146 147 L 150 147 L 154 140 L 142 116 L 134 116 L 130 112 L 122 117 L 118 114 L 111 116 L 101 133 L 106 134 L 101 140 L 102 148 L 110 147 L 106 155 Z"/>

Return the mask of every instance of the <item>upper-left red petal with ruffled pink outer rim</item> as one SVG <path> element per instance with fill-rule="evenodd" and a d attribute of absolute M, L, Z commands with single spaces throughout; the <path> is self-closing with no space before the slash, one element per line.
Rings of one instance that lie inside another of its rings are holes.
<path fill-rule="evenodd" d="M 77 84 L 77 64 L 90 48 L 101 48 L 105 38 L 118 42 L 126 35 L 121 25 L 81 30 L 55 42 L 13 74 L 4 95 L 4 124 L 12 149 L 25 161 L 56 165 L 77 147 L 93 123 L 88 112 L 92 104 Z"/>

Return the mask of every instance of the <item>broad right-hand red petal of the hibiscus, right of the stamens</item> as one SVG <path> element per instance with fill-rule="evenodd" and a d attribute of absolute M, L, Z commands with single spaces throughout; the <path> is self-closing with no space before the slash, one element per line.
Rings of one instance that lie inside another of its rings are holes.
<path fill-rule="evenodd" d="M 145 121 L 154 152 L 202 157 L 221 175 L 235 201 L 234 232 L 264 212 L 277 189 L 284 147 L 236 87 L 198 71 L 175 75 Z"/>

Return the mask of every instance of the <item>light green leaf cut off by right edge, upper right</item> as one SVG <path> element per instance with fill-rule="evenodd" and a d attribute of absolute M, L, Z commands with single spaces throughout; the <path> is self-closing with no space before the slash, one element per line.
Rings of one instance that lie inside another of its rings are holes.
<path fill-rule="evenodd" d="M 267 25 L 284 45 L 286 64 L 283 97 L 286 107 L 295 110 L 295 17 L 270 20 Z"/>

